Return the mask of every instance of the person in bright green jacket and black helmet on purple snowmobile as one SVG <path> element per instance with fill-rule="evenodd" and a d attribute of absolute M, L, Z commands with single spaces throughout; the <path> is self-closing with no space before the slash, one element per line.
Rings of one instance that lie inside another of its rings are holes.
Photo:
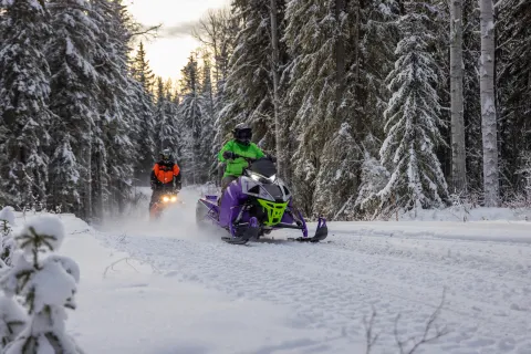
<path fill-rule="evenodd" d="M 227 187 L 243 173 L 243 168 L 248 167 L 246 159 L 237 157 L 235 154 L 248 158 L 261 158 L 266 154 L 254 143 L 251 143 L 252 129 L 246 124 L 238 124 L 232 131 L 235 138 L 221 148 L 218 159 L 227 163 L 223 179 L 221 179 L 221 195 Z"/>

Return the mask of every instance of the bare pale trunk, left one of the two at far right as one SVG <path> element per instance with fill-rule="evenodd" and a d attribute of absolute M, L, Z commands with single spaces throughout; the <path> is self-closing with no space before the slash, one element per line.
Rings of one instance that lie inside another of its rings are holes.
<path fill-rule="evenodd" d="M 462 62 L 462 0 L 450 3 L 451 181 L 457 192 L 467 191 Z"/>

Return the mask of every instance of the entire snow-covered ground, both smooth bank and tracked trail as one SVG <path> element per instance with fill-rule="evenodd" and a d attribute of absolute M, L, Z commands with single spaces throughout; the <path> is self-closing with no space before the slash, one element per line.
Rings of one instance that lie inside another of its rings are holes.
<path fill-rule="evenodd" d="M 198 194 L 181 195 L 157 223 L 62 216 L 81 267 L 67 327 L 87 353 L 365 353 L 373 310 L 371 353 L 400 353 L 444 293 L 430 334 L 448 333 L 416 353 L 531 353 L 528 222 L 331 222 L 326 243 L 237 247 L 198 231 Z"/>

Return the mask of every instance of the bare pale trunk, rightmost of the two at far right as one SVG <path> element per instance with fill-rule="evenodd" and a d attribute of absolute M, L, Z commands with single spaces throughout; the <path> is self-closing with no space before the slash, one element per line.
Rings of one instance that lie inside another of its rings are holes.
<path fill-rule="evenodd" d="M 499 205 L 498 127 L 494 103 L 494 8 L 492 0 L 479 0 L 481 58 L 481 133 L 483 138 L 485 206 Z"/>

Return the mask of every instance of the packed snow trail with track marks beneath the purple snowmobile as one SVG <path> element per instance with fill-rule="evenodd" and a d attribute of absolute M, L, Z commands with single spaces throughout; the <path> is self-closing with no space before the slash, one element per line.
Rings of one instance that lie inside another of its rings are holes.
<path fill-rule="evenodd" d="M 441 223 L 417 222 L 431 230 L 423 237 L 418 226 L 415 236 L 400 231 L 400 222 L 331 222 L 330 243 L 277 239 L 235 247 L 223 243 L 219 232 L 198 231 L 198 192 L 184 190 L 181 196 L 187 204 L 168 210 L 160 222 L 118 223 L 98 239 L 152 264 L 168 282 L 196 283 L 290 309 L 290 326 L 327 339 L 238 353 L 358 353 L 358 344 L 365 343 L 364 317 L 372 309 L 377 315 L 374 332 L 379 333 L 372 353 L 397 353 L 397 315 L 400 339 L 420 337 L 445 288 L 437 324 L 450 332 L 416 353 L 531 353 L 531 236 L 521 235 L 521 223 L 498 223 L 499 232 L 520 232 L 517 239 L 525 241 L 520 243 L 488 241 L 497 239 L 492 225 L 485 240 L 485 226 L 471 232 L 469 223 L 448 223 L 455 230 L 448 232 Z M 386 233 L 393 225 L 395 230 Z M 241 326 L 250 323 L 252 316 Z"/>

